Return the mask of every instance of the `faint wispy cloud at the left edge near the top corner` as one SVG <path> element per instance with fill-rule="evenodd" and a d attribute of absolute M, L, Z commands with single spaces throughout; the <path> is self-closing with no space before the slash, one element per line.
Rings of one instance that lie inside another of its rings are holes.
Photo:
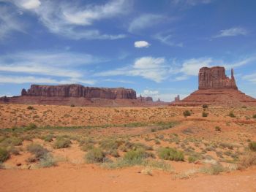
<path fill-rule="evenodd" d="M 24 25 L 17 16 L 18 12 L 14 12 L 7 7 L 0 7 L 0 40 L 8 37 L 12 31 L 25 33 Z"/>

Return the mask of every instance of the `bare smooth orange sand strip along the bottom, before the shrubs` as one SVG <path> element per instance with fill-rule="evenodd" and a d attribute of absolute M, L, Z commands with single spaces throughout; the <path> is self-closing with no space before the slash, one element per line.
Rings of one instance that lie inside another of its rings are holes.
<path fill-rule="evenodd" d="M 140 167 L 105 170 L 92 165 L 0 170 L 0 191 L 256 191 L 256 168 L 218 176 L 172 180 L 172 174 L 138 173 Z"/>

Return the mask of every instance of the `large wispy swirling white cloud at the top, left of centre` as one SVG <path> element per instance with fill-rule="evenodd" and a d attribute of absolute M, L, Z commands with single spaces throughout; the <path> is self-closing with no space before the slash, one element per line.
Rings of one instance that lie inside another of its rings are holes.
<path fill-rule="evenodd" d="M 102 34 L 94 22 L 124 15 L 130 1 L 112 0 L 106 4 L 88 4 L 86 7 L 69 1 L 12 1 L 16 6 L 37 15 L 39 21 L 53 34 L 69 39 L 121 39 L 124 34 Z M 25 2 L 25 4 L 24 4 Z"/>

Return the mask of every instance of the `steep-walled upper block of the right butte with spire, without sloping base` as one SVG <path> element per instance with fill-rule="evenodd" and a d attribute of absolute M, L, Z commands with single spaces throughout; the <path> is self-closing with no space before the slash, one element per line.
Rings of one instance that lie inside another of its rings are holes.
<path fill-rule="evenodd" d="M 231 79 L 225 74 L 225 67 L 203 67 L 198 74 L 198 89 L 236 89 L 234 71 L 231 69 Z"/>

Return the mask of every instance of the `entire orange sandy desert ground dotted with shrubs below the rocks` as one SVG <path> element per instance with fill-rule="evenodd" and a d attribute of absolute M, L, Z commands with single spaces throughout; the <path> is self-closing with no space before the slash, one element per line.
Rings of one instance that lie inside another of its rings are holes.
<path fill-rule="evenodd" d="M 255 107 L 0 109 L 0 191 L 256 191 Z"/>

